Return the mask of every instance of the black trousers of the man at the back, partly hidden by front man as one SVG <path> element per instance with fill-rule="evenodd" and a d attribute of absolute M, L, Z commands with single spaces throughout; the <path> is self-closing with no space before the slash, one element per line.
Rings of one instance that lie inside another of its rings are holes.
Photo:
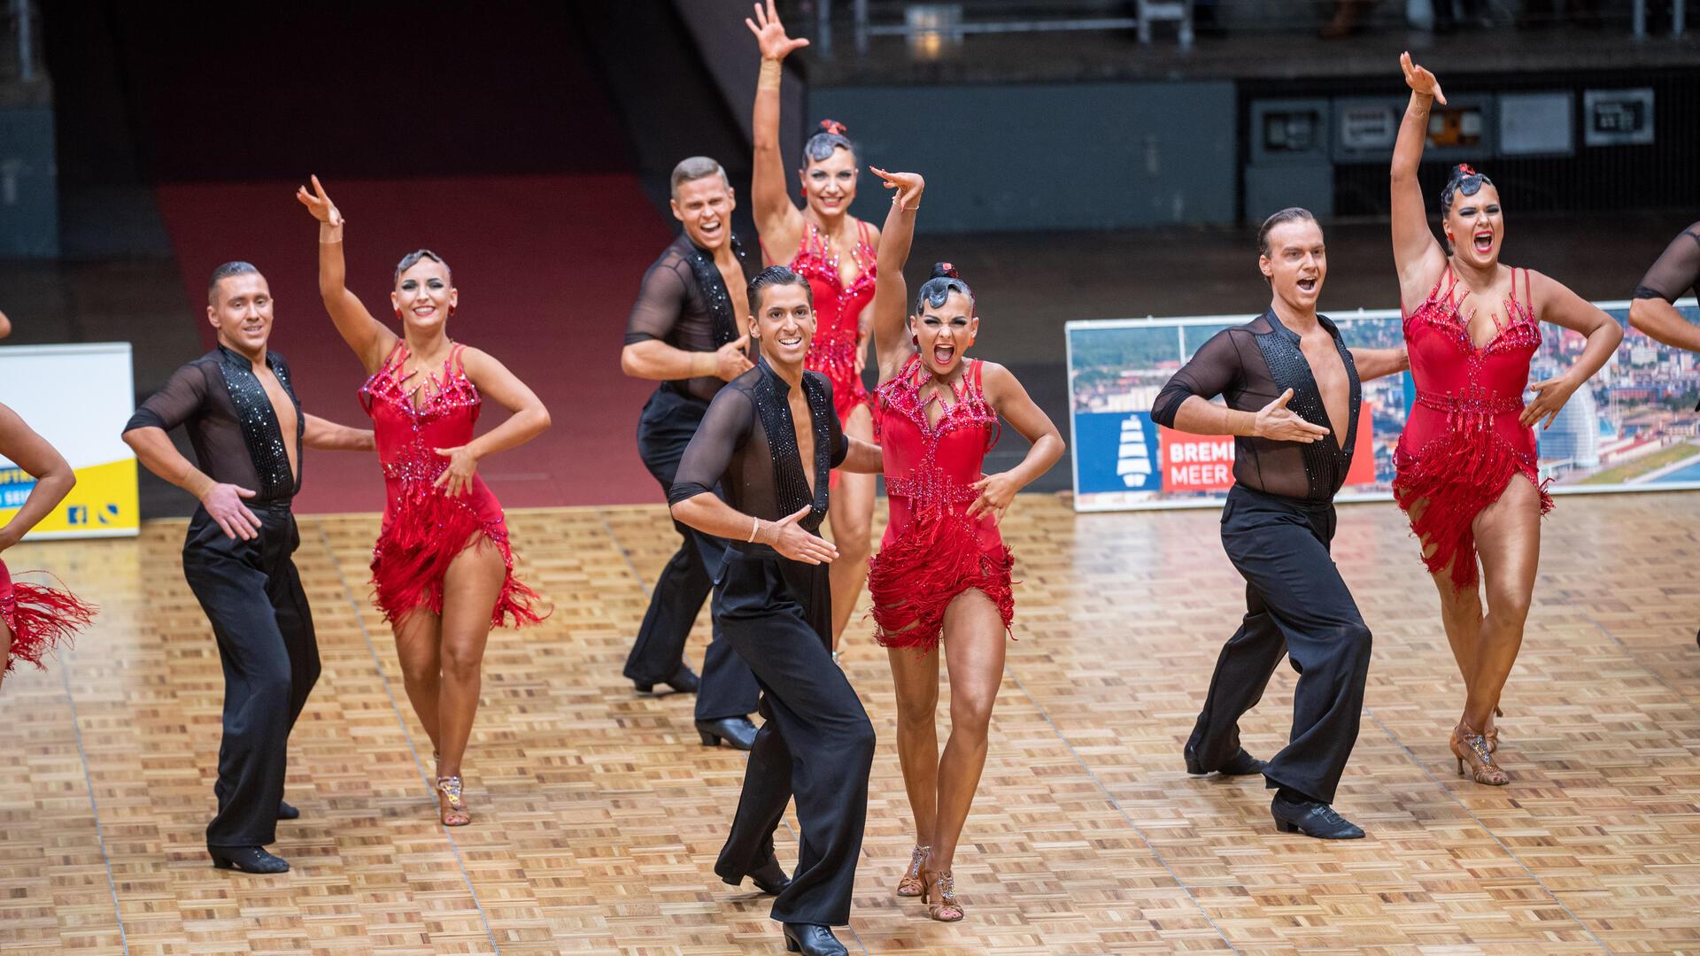
<path fill-rule="evenodd" d="M 661 497 L 673 487 L 678 459 L 697 434 L 706 401 L 660 388 L 643 407 L 638 418 L 638 454 L 644 468 L 661 483 Z M 638 628 L 638 640 L 626 658 L 626 677 L 641 684 L 660 684 L 678 670 L 685 660 L 685 640 L 702 611 L 702 602 L 714 590 L 714 575 L 726 553 L 726 541 L 673 522 L 683 541 L 673 560 L 661 568 L 661 577 L 649 592 L 649 611 Z M 716 600 L 719 600 L 716 597 Z M 721 636 L 719 616 L 714 616 L 714 640 L 702 655 L 702 686 L 697 689 L 697 720 L 745 716 L 755 711 L 756 686 L 750 667 Z"/>

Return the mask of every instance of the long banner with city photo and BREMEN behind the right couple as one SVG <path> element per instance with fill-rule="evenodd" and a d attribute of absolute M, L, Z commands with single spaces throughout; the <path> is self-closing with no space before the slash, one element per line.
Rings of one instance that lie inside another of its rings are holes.
<path fill-rule="evenodd" d="M 1595 304 L 1627 330 L 1627 301 Z M 1700 323 L 1695 299 L 1681 299 L 1678 310 Z M 1384 349 L 1402 342 L 1397 310 L 1328 315 L 1340 325 L 1346 345 Z M 1234 439 L 1159 427 L 1151 420 L 1151 403 L 1198 345 L 1251 318 L 1068 323 L 1074 510 L 1221 504 L 1234 481 Z M 1567 369 L 1584 344 L 1581 335 L 1549 323 L 1540 333 L 1530 381 Z M 1409 373 L 1363 383 L 1353 464 L 1336 500 L 1392 498 L 1392 452 L 1414 396 Z M 1552 478 L 1554 493 L 1700 488 L 1697 401 L 1700 362 L 1695 356 L 1627 330 L 1600 374 L 1576 390 L 1549 429 L 1537 427 L 1540 473 Z"/>

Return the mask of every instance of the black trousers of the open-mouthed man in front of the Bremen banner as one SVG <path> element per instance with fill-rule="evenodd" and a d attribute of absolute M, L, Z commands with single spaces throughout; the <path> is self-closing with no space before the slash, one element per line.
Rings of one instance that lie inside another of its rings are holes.
<path fill-rule="evenodd" d="M 1222 548 L 1246 578 L 1246 617 L 1222 646 L 1188 747 L 1212 771 L 1239 750 L 1250 711 L 1285 653 L 1299 672 L 1292 735 L 1263 776 L 1323 803 L 1358 740 L 1370 629 L 1328 553 L 1333 502 L 1304 502 L 1236 485 L 1222 505 Z"/>

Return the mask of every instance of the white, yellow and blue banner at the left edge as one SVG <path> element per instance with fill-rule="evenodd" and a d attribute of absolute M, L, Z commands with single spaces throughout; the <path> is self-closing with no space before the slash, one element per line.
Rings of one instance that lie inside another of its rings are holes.
<path fill-rule="evenodd" d="M 76 487 L 31 531 L 39 538 L 136 534 L 136 452 L 119 437 L 136 391 L 129 342 L 0 347 L 0 401 L 60 449 Z M 0 524 L 36 480 L 0 456 Z"/>

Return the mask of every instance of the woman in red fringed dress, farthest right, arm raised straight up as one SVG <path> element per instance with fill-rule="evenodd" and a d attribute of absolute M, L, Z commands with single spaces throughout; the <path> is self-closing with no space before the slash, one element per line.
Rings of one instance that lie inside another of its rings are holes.
<path fill-rule="evenodd" d="M 1425 219 L 1416 167 L 1430 104 L 1447 99 L 1409 53 L 1399 63 L 1411 102 L 1392 153 L 1392 250 L 1416 403 L 1394 452 L 1392 488 L 1423 543 L 1423 561 L 1440 589 L 1440 619 L 1464 675 L 1464 716 L 1452 731 L 1459 772 L 1467 764 L 1476 782 L 1503 786 L 1511 777 L 1494 764 L 1493 716 L 1523 643 L 1540 515 L 1552 509 L 1535 466 L 1532 425 L 1552 424 L 1612 357 L 1624 330 L 1554 279 L 1499 264 L 1499 191 L 1469 167 L 1454 168 L 1440 194 L 1452 253 L 1440 248 Z M 1528 384 L 1538 322 L 1586 335 L 1588 347 L 1564 374 Z M 1525 386 L 1537 393 L 1527 408 Z"/>

